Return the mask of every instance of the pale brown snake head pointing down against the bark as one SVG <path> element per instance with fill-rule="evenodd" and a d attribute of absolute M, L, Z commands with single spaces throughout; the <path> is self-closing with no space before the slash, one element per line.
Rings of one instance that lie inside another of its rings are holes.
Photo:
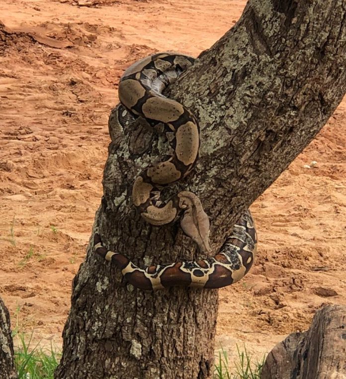
<path fill-rule="evenodd" d="M 179 208 L 184 211 L 180 225 L 183 232 L 194 241 L 203 253 L 211 251 L 209 244 L 209 218 L 199 198 L 192 192 L 178 193 Z"/>

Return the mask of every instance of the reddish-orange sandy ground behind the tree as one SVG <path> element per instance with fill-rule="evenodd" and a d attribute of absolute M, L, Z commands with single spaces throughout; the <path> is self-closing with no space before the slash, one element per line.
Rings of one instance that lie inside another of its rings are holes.
<path fill-rule="evenodd" d="M 197 56 L 246 1 L 92 2 L 1 0 L 15 34 L 0 27 L 0 295 L 13 326 L 58 347 L 102 195 L 119 77 L 153 52 Z M 344 99 L 252 206 L 256 267 L 220 290 L 216 347 L 231 361 L 236 343 L 260 357 L 324 304 L 346 304 L 345 132 Z"/>

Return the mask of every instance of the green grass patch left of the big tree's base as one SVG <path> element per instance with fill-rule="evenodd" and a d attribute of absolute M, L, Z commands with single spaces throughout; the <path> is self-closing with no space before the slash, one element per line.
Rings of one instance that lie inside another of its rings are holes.
<path fill-rule="evenodd" d="M 38 349 L 38 344 L 32 348 L 31 339 L 32 333 L 27 343 L 24 334 L 18 334 L 19 347 L 14 352 L 18 379 L 53 379 L 60 354 L 54 351 L 52 344 L 50 349 Z"/>

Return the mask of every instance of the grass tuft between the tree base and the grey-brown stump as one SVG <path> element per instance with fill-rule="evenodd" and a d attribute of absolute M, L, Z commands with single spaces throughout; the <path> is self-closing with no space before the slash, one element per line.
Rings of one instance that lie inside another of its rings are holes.
<path fill-rule="evenodd" d="M 239 361 L 235 362 L 236 373 L 229 372 L 227 353 L 222 350 L 219 352 L 218 362 L 215 364 L 214 379 L 259 379 L 265 357 L 260 362 L 253 362 L 252 355 L 246 350 L 241 352 L 237 345 Z"/>

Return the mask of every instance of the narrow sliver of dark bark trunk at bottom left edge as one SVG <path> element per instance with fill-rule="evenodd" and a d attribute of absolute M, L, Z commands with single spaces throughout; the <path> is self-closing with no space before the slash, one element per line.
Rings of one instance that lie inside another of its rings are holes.
<path fill-rule="evenodd" d="M 16 379 L 13 361 L 13 341 L 9 313 L 0 299 L 0 378 Z"/>

